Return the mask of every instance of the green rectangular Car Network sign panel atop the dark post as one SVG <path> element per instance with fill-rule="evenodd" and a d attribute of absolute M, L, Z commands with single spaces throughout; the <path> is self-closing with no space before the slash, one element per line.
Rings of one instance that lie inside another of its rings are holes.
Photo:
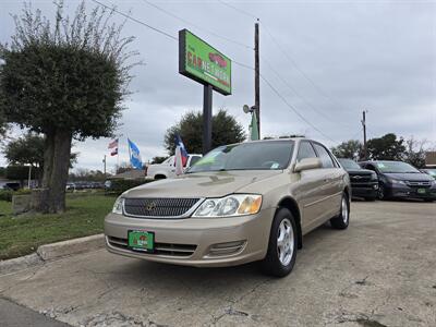
<path fill-rule="evenodd" d="M 179 32 L 179 73 L 231 94 L 231 60 L 187 29 Z"/>

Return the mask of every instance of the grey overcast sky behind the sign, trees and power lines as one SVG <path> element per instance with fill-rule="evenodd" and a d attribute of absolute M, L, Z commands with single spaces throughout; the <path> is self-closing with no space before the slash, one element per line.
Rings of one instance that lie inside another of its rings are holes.
<path fill-rule="evenodd" d="M 247 66 L 254 65 L 258 17 L 261 74 L 267 81 L 261 84 L 263 136 L 303 133 L 331 146 L 361 138 L 362 110 L 367 110 L 370 138 L 393 132 L 436 142 L 436 1 L 98 1 L 174 37 L 187 28 Z M 86 2 L 88 9 L 97 5 Z M 0 4 L 0 43 L 7 43 L 14 31 L 10 14 L 22 3 Z M 32 4 L 52 16 L 52 1 Z M 72 13 L 78 2 L 65 4 Z M 145 64 L 133 71 L 133 94 L 118 131 L 120 161 L 128 160 L 126 137 L 147 161 L 165 155 L 170 125 L 187 110 L 202 109 L 203 87 L 178 73 L 177 40 L 133 21 L 124 33 L 136 37 L 131 49 Z M 233 94 L 214 93 L 214 110 L 226 108 L 247 126 L 242 106 L 254 102 L 254 72 L 232 68 Z M 76 168 L 101 169 L 109 141 L 76 143 Z M 109 158 L 108 168 L 116 162 Z"/>

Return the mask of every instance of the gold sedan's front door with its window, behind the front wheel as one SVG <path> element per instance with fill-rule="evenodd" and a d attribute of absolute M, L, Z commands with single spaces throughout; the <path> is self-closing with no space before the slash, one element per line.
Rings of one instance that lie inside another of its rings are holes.
<path fill-rule="evenodd" d="M 299 143 L 296 162 L 305 158 L 316 158 L 317 155 L 310 141 L 303 140 Z M 308 232 L 316 227 L 316 221 L 323 215 L 323 189 L 319 181 L 324 179 L 323 169 L 308 169 L 300 172 L 300 180 L 295 183 L 295 196 L 301 204 L 302 231 Z"/>

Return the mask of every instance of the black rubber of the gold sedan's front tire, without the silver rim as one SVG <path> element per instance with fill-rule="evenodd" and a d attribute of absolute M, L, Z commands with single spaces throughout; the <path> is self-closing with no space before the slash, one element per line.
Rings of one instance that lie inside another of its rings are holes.
<path fill-rule="evenodd" d="M 292 253 L 292 258 L 290 263 L 287 266 L 283 266 L 280 263 L 278 252 L 277 252 L 277 235 L 279 231 L 279 226 L 280 222 L 283 219 L 289 219 L 289 221 L 292 225 L 292 230 L 293 230 L 293 253 Z M 272 225 L 271 225 L 271 230 L 269 233 L 269 241 L 268 241 L 268 251 L 265 256 L 265 259 L 262 263 L 263 270 L 264 272 L 276 276 L 276 277 L 283 277 L 289 275 L 292 271 L 292 268 L 295 264 L 296 259 L 296 250 L 298 250 L 298 232 L 296 232 L 296 223 L 295 219 L 292 216 L 292 213 L 287 209 L 287 208 L 279 208 L 276 211 L 276 215 L 274 216 Z"/>

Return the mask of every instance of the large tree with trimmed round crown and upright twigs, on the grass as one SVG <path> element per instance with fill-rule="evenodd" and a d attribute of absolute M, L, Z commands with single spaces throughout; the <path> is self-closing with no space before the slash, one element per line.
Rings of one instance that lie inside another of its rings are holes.
<path fill-rule="evenodd" d="M 9 122 L 45 135 L 43 213 L 63 211 L 73 140 L 110 137 L 128 94 L 132 37 L 97 7 L 75 16 L 56 3 L 55 24 L 25 5 L 15 35 L 0 46 L 0 106 Z"/>

